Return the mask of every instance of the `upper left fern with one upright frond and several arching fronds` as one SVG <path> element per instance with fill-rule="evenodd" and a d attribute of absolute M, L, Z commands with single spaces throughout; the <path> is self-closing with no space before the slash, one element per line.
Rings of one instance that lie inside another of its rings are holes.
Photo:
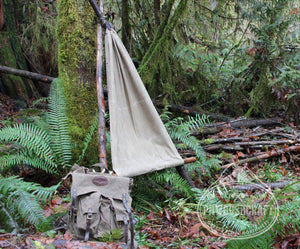
<path fill-rule="evenodd" d="M 0 130 L 0 141 L 14 150 L 0 158 L 0 169 L 28 165 L 51 174 L 64 174 L 70 167 L 71 142 L 60 80 L 52 82 L 47 123 L 15 124 Z"/>

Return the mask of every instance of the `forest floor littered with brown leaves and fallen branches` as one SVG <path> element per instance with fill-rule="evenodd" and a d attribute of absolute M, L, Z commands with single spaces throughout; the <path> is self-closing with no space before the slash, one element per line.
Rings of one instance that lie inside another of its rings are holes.
<path fill-rule="evenodd" d="M 18 102 L 1 96 L 0 128 L 32 119 L 40 111 L 23 109 L 30 103 Z M 256 120 L 257 121 L 257 120 Z M 274 121 L 274 119 L 273 119 Z M 249 125 L 246 119 L 233 122 L 209 124 L 202 130 L 193 131 L 208 158 L 217 156 L 221 169 L 213 178 L 205 173 L 194 180 L 197 188 L 208 188 L 220 179 L 222 171 L 227 177 L 235 178 L 241 169 L 251 170 L 270 188 L 271 184 L 282 188 L 286 183 L 300 179 L 300 127 L 293 123 L 284 124 L 279 119 L 273 122 Z M 240 122 L 235 125 L 234 122 Z M 0 148 L 1 149 L 1 148 Z M 193 151 L 181 151 L 182 156 L 194 156 Z M 188 167 L 188 165 L 186 166 Z M 204 170 L 203 170 L 204 171 Z M 281 186 L 282 185 L 282 186 Z M 252 191 L 246 190 L 246 191 Z M 180 199 L 180 196 L 178 197 Z M 222 200 L 223 201 L 223 200 Z M 134 206 L 134 204 L 133 204 Z M 66 212 L 69 203 L 64 193 L 58 193 L 45 206 L 48 215 L 60 210 Z M 149 207 L 152 208 L 151 205 Z M 138 217 L 136 240 L 139 248 L 225 248 L 226 241 L 218 233 L 211 233 L 201 223 L 196 212 L 174 211 L 170 206 L 153 209 L 145 213 L 134 210 Z M 33 231 L 34 229 L 32 229 Z M 300 231 L 287 237 L 278 237 L 274 248 L 300 248 Z M 119 249 L 121 244 L 112 242 L 82 242 L 73 240 L 64 230 L 52 233 L 0 234 L 0 248 L 100 248 Z"/>

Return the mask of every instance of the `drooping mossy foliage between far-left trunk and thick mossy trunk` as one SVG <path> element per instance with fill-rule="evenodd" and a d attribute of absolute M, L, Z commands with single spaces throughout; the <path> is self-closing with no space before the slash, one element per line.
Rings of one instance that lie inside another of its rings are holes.
<path fill-rule="evenodd" d="M 57 74 L 56 5 L 56 1 L 45 4 L 42 0 L 20 4 L 22 48 L 31 63 L 49 75 Z"/>

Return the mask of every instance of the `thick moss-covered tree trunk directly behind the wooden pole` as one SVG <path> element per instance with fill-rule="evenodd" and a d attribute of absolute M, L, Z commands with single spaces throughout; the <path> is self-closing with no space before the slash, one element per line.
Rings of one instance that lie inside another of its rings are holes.
<path fill-rule="evenodd" d="M 75 144 L 74 158 L 81 152 L 85 134 L 97 111 L 96 15 L 88 1 L 58 2 L 58 69 L 66 92 L 67 113 Z M 89 160 L 97 159 L 95 151 Z"/>

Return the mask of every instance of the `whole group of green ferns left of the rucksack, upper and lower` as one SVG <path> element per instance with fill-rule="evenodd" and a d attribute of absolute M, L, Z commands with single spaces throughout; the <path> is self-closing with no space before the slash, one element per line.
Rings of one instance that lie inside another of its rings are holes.
<path fill-rule="evenodd" d="M 0 142 L 13 148 L 0 157 L 0 172 L 13 166 L 29 166 L 60 176 L 69 169 L 71 142 L 59 79 L 51 85 L 46 122 L 4 127 L 0 130 Z M 33 224 L 41 231 L 48 229 L 50 222 L 41 205 L 57 186 L 46 188 L 16 176 L 0 175 L 0 178 L 0 225 L 4 231 L 19 232 L 26 224 Z"/>

